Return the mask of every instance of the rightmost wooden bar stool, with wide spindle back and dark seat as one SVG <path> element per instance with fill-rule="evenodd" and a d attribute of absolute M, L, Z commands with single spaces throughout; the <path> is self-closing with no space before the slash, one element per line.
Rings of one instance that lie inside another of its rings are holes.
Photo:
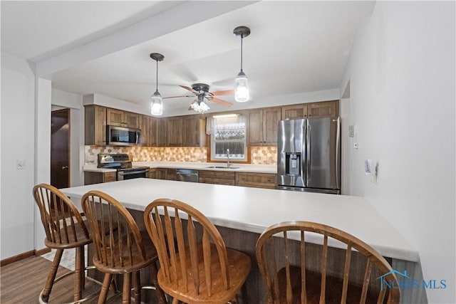
<path fill-rule="evenodd" d="M 323 246 L 307 243 L 306 237 L 321 239 Z M 295 240 L 299 240 L 297 245 Z M 328 242 L 337 248 L 328 248 Z M 355 236 L 331 226 L 308 221 L 275 224 L 261 234 L 256 251 L 269 304 L 400 301 L 398 288 L 380 285 L 378 278 L 395 280 L 385 258 Z M 336 253 L 333 258 L 330 251 Z M 318 266 L 316 261 L 320 261 L 319 271 L 310 269 Z M 361 273 L 360 278 L 352 278 L 356 272 Z"/>

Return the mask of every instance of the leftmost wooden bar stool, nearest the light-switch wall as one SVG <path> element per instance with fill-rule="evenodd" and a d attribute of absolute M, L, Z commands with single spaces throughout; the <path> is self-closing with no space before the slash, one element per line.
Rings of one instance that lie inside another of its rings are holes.
<path fill-rule="evenodd" d="M 41 222 L 46 233 L 44 244 L 48 248 L 56 249 L 46 285 L 38 297 L 39 303 L 47 303 L 54 283 L 68 276 L 68 274 L 74 275 L 74 302 L 81 303 L 93 298 L 98 293 L 82 298 L 86 270 L 84 246 L 92 243 L 83 216 L 65 194 L 50 184 L 38 184 L 33 187 L 33 197 L 38 205 Z M 56 278 L 63 251 L 71 248 L 76 250 L 75 270 Z"/>

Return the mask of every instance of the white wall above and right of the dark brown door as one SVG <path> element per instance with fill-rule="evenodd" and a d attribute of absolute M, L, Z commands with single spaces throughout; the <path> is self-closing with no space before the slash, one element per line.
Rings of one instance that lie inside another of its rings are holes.
<path fill-rule="evenodd" d="M 52 108 L 70 109 L 70 187 L 84 184 L 84 107 L 83 96 L 52 90 Z"/>

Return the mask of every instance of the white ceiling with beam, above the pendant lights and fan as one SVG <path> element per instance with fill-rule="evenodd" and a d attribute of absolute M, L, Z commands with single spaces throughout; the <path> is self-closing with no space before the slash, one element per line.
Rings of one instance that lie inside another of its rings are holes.
<path fill-rule="evenodd" d="M 252 100 L 209 103 L 209 112 L 284 104 L 287 96 L 338 90 L 372 1 L 1 1 L 1 51 L 36 63 L 52 87 L 125 100 L 147 110 L 158 90 L 179 85 L 231 90 L 240 69 L 237 26 L 249 26 L 243 68 Z M 322 94 L 324 95 L 324 94 Z M 292 98 L 290 98 L 291 100 Z M 192 114 L 192 98 L 164 102 L 164 115 Z"/>

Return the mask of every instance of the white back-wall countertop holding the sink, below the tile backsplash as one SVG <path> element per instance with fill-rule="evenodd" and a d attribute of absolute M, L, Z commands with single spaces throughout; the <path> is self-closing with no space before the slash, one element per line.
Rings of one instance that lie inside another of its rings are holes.
<path fill-rule="evenodd" d="M 237 169 L 227 168 L 208 168 L 212 166 L 226 166 L 226 163 L 217 162 L 133 162 L 133 166 L 143 166 L 150 168 L 170 168 L 170 169 L 197 169 L 197 170 L 216 170 L 229 172 L 257 172 L 257 173 L 277 173 L 276 164 L 232 164 Z M 238 168 L 239 167 L 239 168 Z M 97 164 L 84 164 L 83 171 L 86 172 L 115 172 L 115 169 L 97 168 Z"/>

